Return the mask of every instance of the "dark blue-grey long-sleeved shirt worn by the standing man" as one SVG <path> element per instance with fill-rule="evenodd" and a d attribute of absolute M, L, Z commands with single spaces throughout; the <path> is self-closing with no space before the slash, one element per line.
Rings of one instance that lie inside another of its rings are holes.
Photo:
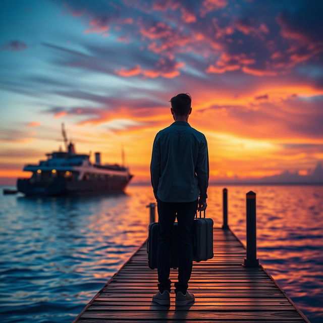
<path fill-rule="evenodd" d="M 150 163 L 155 198 L 164 202 L 206 199 L 208 151 L 205 136 L 188 122 L 175 121 L 154 139 Z"/>

